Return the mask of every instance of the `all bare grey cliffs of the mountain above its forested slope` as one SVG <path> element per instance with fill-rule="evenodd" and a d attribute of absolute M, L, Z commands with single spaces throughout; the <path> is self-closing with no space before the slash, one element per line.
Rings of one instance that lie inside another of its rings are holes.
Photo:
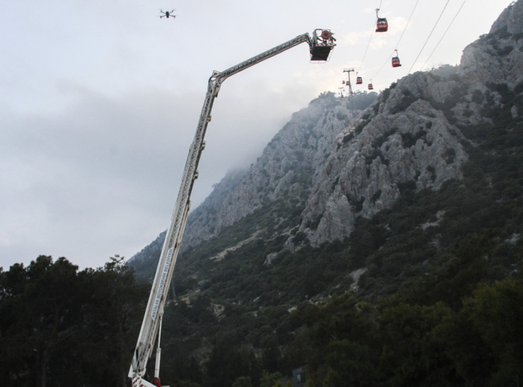
<path fill-rule="evenodd" d="M 285 247 L 319 246 L 350 235 L 358 217 L 390 208 L 402 187 L 438 190 L 460 179 L 468 160 L 460 129 L 490 122 L 486 109 L 507 103 L 493 84 L 523 91 L 522 17 L 519 0 L 464 49 L 459 66 L 408 75 L 363 111 L 332 93 L 311 101 L 256 163 L 225 176 L 191 212 L 183 249 L 277 201 L 299 215 L 278 215 Z"/>

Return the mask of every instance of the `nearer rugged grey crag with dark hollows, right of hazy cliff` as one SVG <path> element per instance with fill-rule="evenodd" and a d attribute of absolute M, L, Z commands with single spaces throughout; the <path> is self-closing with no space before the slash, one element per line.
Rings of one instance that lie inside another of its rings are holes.
<path fill-rule="evenodd" d="M 402 183 L 438 189 L 461 177 L 459 167 L 467 154 L 444 114 L 420 99 L 433 86 L 425 77 L 405 79 L 388 101 L 374 107 L 379 112 L 359 133 L 349 127 L 338 136 L 335 149 L 314 174 L 300 224 L 313 246 L 343 239 L 356 217 L 370 218 L 391 207 Z M 414 102 L 392 113 L 404 99 Z M 351 133 L 354 139 L 344 143 Z M 308 224 L 315 219 L 320 221 L 313 229 Z"/>

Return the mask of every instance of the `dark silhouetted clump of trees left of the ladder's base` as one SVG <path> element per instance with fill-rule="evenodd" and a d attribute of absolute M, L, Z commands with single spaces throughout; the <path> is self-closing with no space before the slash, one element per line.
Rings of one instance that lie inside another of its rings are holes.
<path fill-rule="evenodd" d="M 149 286 L 113 257 L 0 268 L 0 385 L 125 386 Z"/>

